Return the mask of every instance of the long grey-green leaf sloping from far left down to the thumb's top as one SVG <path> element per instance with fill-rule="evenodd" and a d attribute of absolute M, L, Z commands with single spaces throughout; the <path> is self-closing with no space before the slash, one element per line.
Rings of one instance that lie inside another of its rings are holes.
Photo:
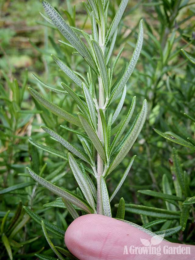
<path fill-rule="evenodd" d="M 41 184 L 43 187 L 47 188 L 49 191 L 55 193 L 59 197 L 62 197 L 69 202 L 71 202 L 73 205 L 87 211 L 88 213 L 93 212 L 93 209 L 82 199 L 80 199 L 76 194 L 74 194 L 71 191 L 61 189 L 58 186 L 52 184 L 51 182 L 44 180 L 42 177 L 38 176 L 36 173 L 34 173 L 30 168 L 27 167 L 27 171 L 30 174 L 30 176 L 36 180 L 39 184 Z"/>

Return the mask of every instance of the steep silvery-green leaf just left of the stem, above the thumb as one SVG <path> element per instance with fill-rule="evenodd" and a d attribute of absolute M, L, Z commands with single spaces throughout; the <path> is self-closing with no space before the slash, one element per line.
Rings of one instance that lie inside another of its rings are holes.
<path fill-rule="evenodd" d="M 74 157 L 70 153 L 68 154 L 68 160 L 69 160 L 70 168 L 76 179 L 76 182 L 78 183 L 78 185 L 79 185 L 81 191 L 83 192 L 86 200 L 88 201 L 89 205 L 95 210 L 95 203 L 94 203 L 93 195 L 91 193 L 89 184 L 88 184 L 87 180 L 85 179 L 83 173 L 81 172 Z"/>

